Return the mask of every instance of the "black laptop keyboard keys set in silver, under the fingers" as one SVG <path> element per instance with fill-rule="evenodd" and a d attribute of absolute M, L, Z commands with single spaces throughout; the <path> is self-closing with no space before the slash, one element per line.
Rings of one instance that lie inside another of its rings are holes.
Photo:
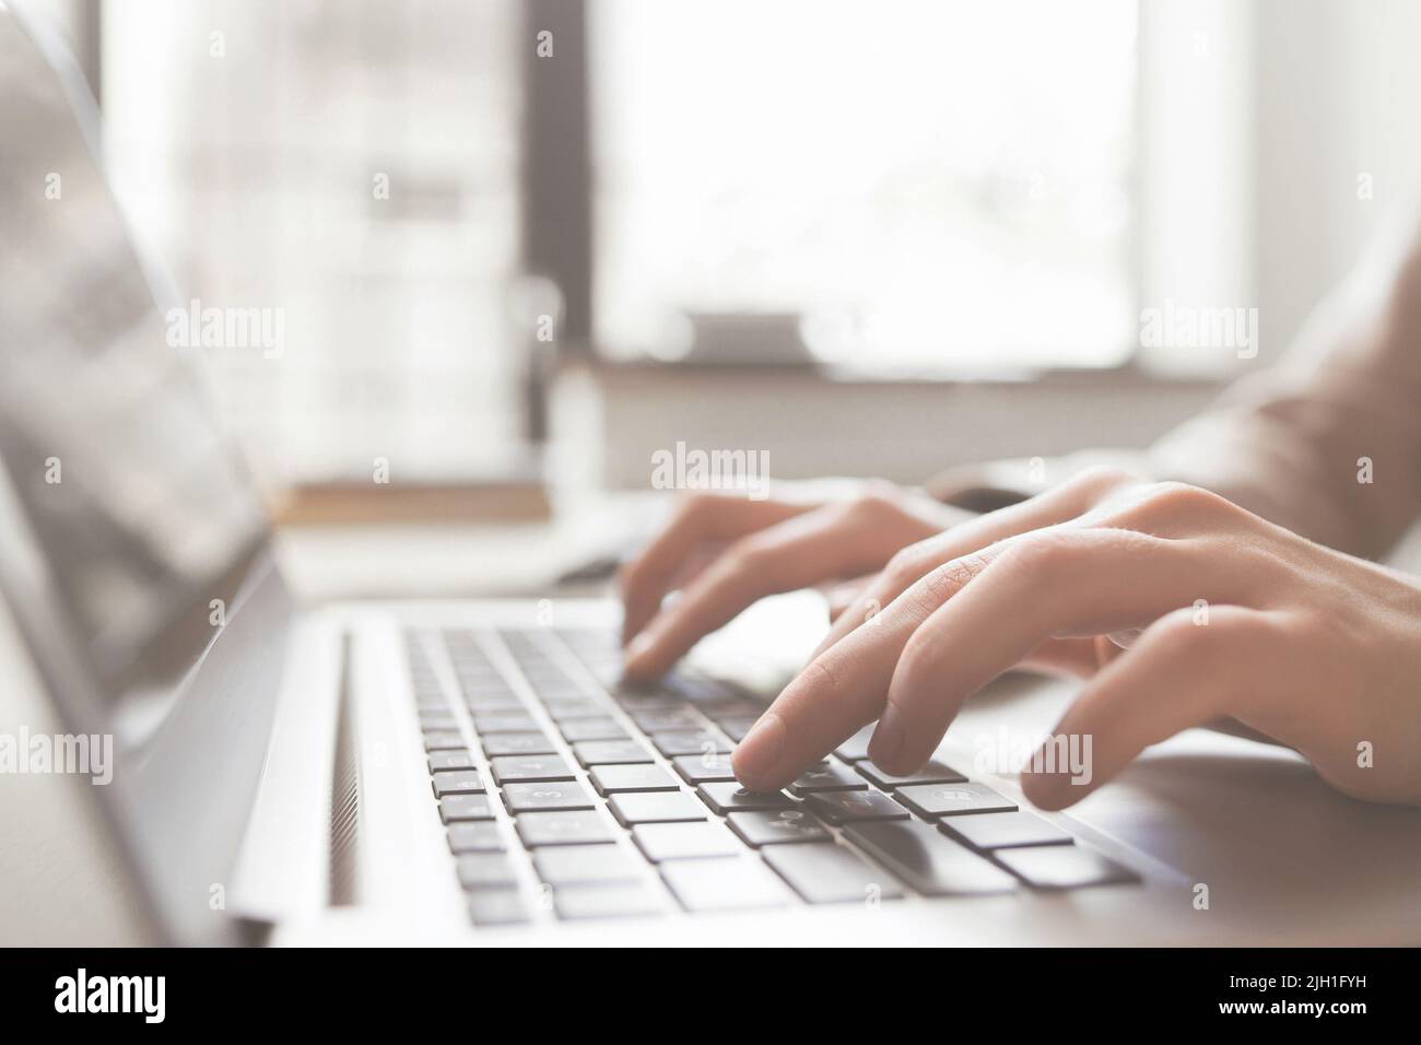
<path fill-rule="evenodd" d="M 406 634 L 433 805 L 479 926 L 1138 881 L 956 768 L 894 776 L 871 728 L 783 792 L 735 782 L 763 700 L 618 687 L 611 631 Z"/>

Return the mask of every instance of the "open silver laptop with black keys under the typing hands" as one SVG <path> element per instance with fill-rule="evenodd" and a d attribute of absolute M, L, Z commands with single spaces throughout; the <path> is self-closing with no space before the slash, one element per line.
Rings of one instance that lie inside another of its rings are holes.
<path fill-rule="evenodd" d="M 11 943 L 1421 940 L 1421 810 L 1290 751 L 1189 731 L 1033 810 L 1010 751 L 1066 684 L 1000 680 L 911 778 L 865 732 L 745 792 L 729 754 L 821 631 L 811 596 L 635 690 L 608 599 L 294 604 L 85 102 L 18 31 L 0 20 Z"/>

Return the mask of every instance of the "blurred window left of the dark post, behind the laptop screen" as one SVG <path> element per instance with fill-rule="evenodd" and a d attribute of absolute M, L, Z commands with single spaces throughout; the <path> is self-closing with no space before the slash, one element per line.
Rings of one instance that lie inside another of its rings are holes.
<path fill-rule="evenodd" d="M 276 479 L 468 473 L 522 441 L 516 0 L 107 0 L 105 152 L 203 307 L 280 310 L 210 354 Z M 438 476 L 436 476 L 438 478 Z"/>

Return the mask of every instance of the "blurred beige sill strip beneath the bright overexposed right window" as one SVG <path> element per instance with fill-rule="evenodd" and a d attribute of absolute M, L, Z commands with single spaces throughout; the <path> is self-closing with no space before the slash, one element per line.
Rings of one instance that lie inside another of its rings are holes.
<path fill-rule="evenodd" d="M 684 442 L 769 454 L 779 478 L 921 482 L 955 465 L 1138 449 L 1204 409 L 1221 380 L 1123 367 L 1033 378 L 870 378 L 816 367 L 566 363 L 553 442 L 576 475 L 644 489 Z"/>

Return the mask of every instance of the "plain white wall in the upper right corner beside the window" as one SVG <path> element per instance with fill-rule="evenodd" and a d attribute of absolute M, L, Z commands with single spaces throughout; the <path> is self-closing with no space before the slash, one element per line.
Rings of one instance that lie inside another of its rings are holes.
<path fill-rule="evenodd" d="M 1414 0 L 1256 1 L 1260 361 L 1421 199 L 1418 45 Z M 1358 198 L 1363 175 L 1371 199 Z"/>

